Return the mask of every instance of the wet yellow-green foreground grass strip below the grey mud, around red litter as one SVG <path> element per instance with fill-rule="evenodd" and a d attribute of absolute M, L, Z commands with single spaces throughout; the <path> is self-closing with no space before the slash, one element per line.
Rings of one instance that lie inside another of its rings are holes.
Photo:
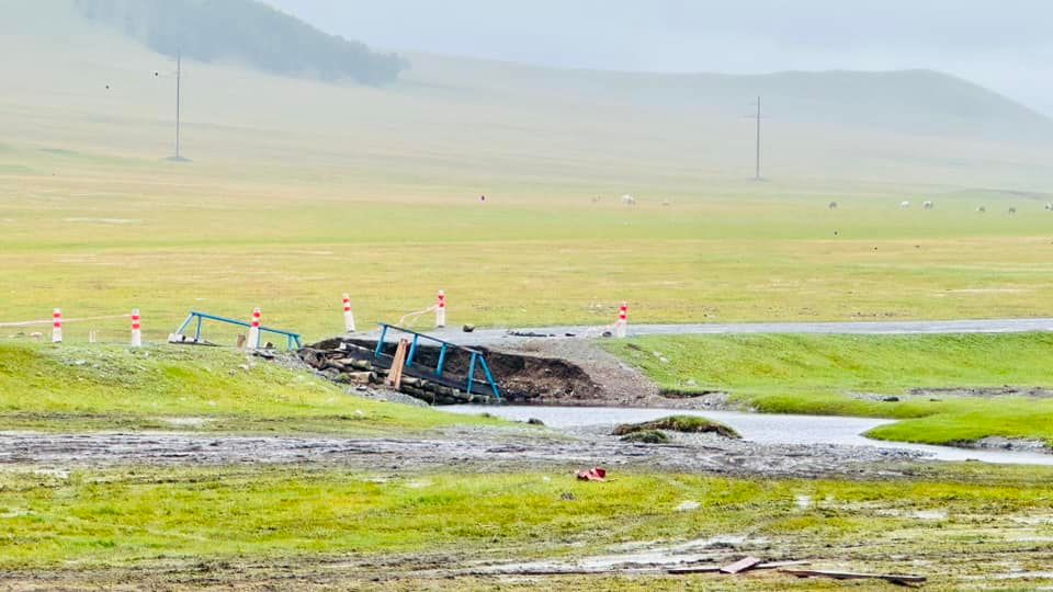
<path fill-rule="evenodd" d="M 580 556 L 633 540 L 734 534 L 803 546 L 807 540 L 835 547 L 867 538 L 899 540 L 909 551 L 931 543 L 946 526 L 912 519 L 913 512 L 984 514 L 987 524 L 1053 512 L 1049 475 L 1039 473 L 1011 485 L 967 486 L 612 477 L 607 483 L 584 483 L 570 474 L 540 473 L 408 477 L 283 467 L 63 476 L 7 470 L 0 473 L 0 568 L 346 554 L 529 559 Z M 563 499 L 565 492 L 574 499 Z M 801 497 L 815 500 L 814 505 L 800 508 Z M 687 500 L 701 506 L 678 512 Z M 914 538 L 903 543 L 901 535 L 909 532 Z M 974 534 L 977 544 L 980 536 Z"/>

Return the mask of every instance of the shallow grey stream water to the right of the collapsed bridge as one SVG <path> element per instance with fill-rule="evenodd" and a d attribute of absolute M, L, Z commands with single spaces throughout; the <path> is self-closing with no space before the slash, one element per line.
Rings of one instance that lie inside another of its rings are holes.
<path fill-rule="evenodd" d="M 1051 454 L 879 442 L 862 435 L 879 425 L 893 423 L 893 420 L 883 419 L 603 407 L 487 407 L 464 405 L 442 409 L 453 413 L 490 413 L 512 421 L 526 421 L 536 418 L 545 422 L 545 425 L 556 429 L 612 429 L 619 423 L 636 423 L 669 415 L 698 415 L 729 425 L 741 434 L 744 440 L 759 444 L 867 446 L 914 451 L 936 460 L 980 460 L 999 465 L 1053 466 L 1053 455 Z"/>

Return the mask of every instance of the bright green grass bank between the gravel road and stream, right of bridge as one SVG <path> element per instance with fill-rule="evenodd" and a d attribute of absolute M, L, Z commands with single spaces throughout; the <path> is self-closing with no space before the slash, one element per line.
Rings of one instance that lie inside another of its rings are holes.
<path fill-rule="evenodd" d="M 869 434 L 878 439 L 950 444 L 1005 436 L 1053 445 L 1053 399 L 908 394 L 1050 386 L 1049 333 L 643 338 L 607 346 L 668 391 L 724 390 L 769 413 L 904 420 Z M 688 386 L 692 380 L 697 386 Z"/>

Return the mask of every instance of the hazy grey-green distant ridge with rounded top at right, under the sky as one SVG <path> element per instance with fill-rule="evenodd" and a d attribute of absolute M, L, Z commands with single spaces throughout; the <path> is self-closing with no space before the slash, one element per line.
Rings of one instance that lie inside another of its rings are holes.
<path fill-rule="evenodd" d="M 1053 119 L 967 80 L 936 70 L 781 71 L 758 75 L 656 73 L 553 69 L 411 54 L 415 77 L 472 72 L 499 88 L 534 88 L 603 103 L 671 113 L 749 115 L 763 98 L 771 124 L 805 123 L 977 140 L 1053 144 Z M 431 82 L 440 83 L 434 79 Z"/>

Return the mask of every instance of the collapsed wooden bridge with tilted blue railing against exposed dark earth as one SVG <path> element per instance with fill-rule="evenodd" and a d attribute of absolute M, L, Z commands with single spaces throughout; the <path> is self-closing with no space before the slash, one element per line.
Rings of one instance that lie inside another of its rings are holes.
<path fill-rule="evenodd" d="M 380 340 L 337 338 L 304 348 L 299 355 L 330 380 L 387 384 L 431 405 L 593 398 L 601 390 L 581 367 L 564 360 L 464 348 L 407 329 L 381 327 L 385 330 Z M 405 340 L 404 358 L 399 341 L 385 339 L 393 331 L 411 338 Z"/>

